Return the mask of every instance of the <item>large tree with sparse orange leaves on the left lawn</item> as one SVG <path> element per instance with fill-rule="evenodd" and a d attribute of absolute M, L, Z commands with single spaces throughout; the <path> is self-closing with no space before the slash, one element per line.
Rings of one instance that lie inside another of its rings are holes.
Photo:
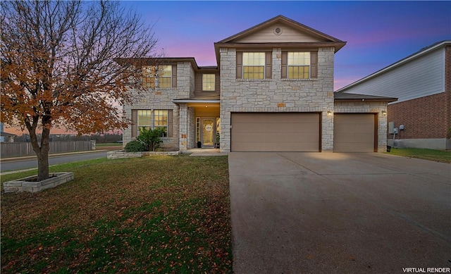
<path fill-rule="evenodd" d="M 30 133 L 38 180 L 49 178 L 52 127 L 127 126 L 118 105 L 142 89 L 141 66 L 116 61 L 156 57 L 156 42 L 118 1 L 1 1 L 0 120 Z"/>

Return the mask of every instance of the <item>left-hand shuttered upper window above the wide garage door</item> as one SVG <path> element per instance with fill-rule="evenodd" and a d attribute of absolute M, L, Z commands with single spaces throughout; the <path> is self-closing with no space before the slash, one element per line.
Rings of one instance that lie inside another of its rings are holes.
<path fill-rule="evenodd" d="M 272 52 L 237 51 L 237 79 L 270 79 L 272 77 Z"/>

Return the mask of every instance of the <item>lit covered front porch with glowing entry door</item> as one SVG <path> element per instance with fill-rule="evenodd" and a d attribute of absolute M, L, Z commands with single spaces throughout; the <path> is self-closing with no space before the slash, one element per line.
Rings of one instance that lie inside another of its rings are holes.
<path fill-rule="evenodd" d="M 219 95 L 172 101 L 180 113 L 180 151 L 218 149 L 221 145 Z"/>

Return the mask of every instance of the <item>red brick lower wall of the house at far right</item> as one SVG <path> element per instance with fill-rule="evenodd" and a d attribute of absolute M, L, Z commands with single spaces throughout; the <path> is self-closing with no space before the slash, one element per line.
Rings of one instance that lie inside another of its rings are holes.
<path fill-rule="evenodd" d="M 449 72 L 447 72 L 449 80 Z M 449 81 L 448 81 L 449 82 Z M 446 138 L 450 120 L 450 87 L 448 91 L 388 105 L 388 122 L 404 125 L 401 139 Z M 393 136 L 393 135 L 391 135 Z"/>

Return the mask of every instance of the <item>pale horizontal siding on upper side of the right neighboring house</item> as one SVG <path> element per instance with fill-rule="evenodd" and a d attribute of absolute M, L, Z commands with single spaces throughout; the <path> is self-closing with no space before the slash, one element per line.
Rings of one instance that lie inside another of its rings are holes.
<path fill-rule="evenodd" d="M 445 92 L 445 49 L 420 56 L 343 91 L 397 97 L 398 101 Z"/>

